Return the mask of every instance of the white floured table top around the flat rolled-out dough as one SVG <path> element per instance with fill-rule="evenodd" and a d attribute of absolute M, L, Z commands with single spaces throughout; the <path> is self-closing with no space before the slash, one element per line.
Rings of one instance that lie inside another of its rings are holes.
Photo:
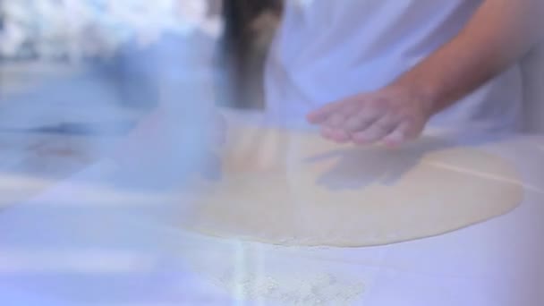
<path fill-rule="evenodd" d="M 542 139 L 528 143 L 533 140 Z M 515 152 L 501 152 L 525 161 L 540 154 L 519 143 Z M 544 164 L 536 167 L 522 165 L 533 187 L 544 182 Z M 539 224 L 544 206 L 536 191 L 529 191 L 522 208 L 513 213 L 434 238 L 349 250 L 281 248 L 182 233 L 157 222 L 162 219 L 155 217 L 165 213 L 160 206 L 98 205 L 78 198 L 87 194 L 89 182 L 115 174 L 112 169 L 107 161 L 98 161 L 0 213 L 0 287 L 9 288 L 0 292 L 0 300 L 52 305 L 293 304 L 233 298 L 246 278 L 262 274 L 289 285 L 293 279 L 317 282 L 328 277 L 356 293 L 361 289 L 347 304 L 508 305 L 529 301 L 515 295 L 531 293 L 530 285 L 520 285 L 527 278 L 532 285 L 541 281 L 540 274 L 532 273 L 542 254 L 535 242 L 544 233 Z M 225 285 L 222 277 L 228 274 L 234 280 Z M 387 294 L 391 292 L 395 294 Z M 536 297 L 531 294 L 531 299 Z"/>

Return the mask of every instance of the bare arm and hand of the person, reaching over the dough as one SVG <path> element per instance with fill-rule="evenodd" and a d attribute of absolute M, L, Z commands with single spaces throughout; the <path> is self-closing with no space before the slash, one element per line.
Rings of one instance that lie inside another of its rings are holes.
<path fill-rule="evenodd" d="M 430 116 L 505 70 L 542 38 L 541 13 L 541 0 L 487 0 L 455 38 L 392 84 L 324 106 L 309 120 L 338 142 L 416 138 Z"/>

